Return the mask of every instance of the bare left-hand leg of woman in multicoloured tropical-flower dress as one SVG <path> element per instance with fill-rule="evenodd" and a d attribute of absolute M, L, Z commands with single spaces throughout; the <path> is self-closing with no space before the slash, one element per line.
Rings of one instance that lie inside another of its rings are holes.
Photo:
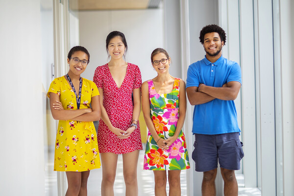
<path fill-rule="evenodd" d="M 155 196 L 167 195 L 167 172 L 166 171 L 153 171 L 155 181 Z"/>

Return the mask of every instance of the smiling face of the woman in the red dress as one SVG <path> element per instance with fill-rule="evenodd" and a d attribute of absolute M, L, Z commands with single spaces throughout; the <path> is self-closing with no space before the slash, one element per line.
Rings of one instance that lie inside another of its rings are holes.
<path fill-rule="evenodd" d="M 112 59 L 123 58 L 125 47 L 120 36 L 112 38 L 108 44 L 108 52 Z"/>

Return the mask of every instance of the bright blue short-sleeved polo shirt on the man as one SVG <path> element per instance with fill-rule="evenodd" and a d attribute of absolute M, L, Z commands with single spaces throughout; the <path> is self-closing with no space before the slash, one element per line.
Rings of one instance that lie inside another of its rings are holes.
<path fill-rule="evenodd" d="M 211 63 L 205 56 L 204 59 L 189 66 L 186 87 L 198 87 L 201 83 L 222 87 L 230 81 L 242 84 L 241 68 L 238 63 L 229 61 L 223 56 Z M 234 101 L 216 98 L 207 103 L 195 105 L 192 132 L 207 135 L 240 132 Z"/>

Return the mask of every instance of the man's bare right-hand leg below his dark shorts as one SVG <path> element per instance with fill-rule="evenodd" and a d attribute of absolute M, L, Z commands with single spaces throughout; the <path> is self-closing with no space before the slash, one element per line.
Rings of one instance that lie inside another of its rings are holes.
<path fill-rule="evenodd" d="M 235 171 L 221 168 L 221 175 L 224 181 L 224 196 L 238 196 L 238 183 Z"/>

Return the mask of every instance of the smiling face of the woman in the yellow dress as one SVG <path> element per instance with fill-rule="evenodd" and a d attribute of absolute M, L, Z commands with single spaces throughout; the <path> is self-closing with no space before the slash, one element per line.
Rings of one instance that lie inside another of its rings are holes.
<path fill-rule="evenodd" d="M 83 51 L 75 51 L 71 59 L 68 58 L 68 64 L 70 65 L 69 73 L 73 73 L 74 75 L 80 75 L 85 71 L 87 65 L 82 65 L 81 62 L 75 63 L 73 58 L 78 59 L 80 61 L 88 61 L 88 55 Z"/>

